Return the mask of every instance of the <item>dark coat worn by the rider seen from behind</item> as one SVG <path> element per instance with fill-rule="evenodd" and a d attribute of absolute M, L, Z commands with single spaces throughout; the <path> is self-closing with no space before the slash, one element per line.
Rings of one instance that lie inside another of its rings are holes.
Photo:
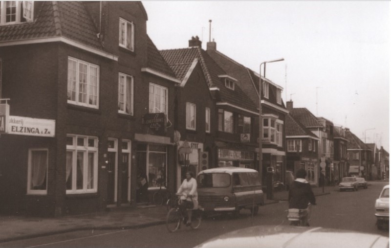
<path fill-rule="evenodd" d="M 308 203 L 315 204 L 311 185 L 307 182 L 293 181 L 289 189 L 289 208 L 305 209 Z"/>

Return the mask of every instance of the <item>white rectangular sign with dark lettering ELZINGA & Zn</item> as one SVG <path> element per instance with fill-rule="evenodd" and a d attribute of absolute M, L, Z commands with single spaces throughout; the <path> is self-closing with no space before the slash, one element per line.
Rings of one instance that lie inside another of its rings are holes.
<path fill-rule="evenodd" d="M 8 134 L 54 137 L 56 121 L 10 115 Z"/>

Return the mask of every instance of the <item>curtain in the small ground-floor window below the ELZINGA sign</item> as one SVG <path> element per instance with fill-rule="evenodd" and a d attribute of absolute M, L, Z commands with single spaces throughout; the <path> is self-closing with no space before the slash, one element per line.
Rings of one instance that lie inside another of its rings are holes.
<path fill-rule="evenodd" d="M 47 151 L 31 152 L 31 183 L 33 189 L 46 189 Z"/>

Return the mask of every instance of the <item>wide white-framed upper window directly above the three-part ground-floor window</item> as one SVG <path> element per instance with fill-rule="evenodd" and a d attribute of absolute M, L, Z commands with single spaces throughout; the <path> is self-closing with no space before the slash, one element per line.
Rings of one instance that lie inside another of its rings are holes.
<path fill-rule="evenodd" d="M 99 67 L 68 58 L 68 103 L 98 108 Z"/>

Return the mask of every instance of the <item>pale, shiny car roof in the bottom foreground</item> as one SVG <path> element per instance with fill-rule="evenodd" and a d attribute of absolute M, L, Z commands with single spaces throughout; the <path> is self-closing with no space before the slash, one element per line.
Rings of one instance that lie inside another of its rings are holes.
<path fill-rule="evenodd" d="M 323 227 L 260 225 L 229 232 L 196 248 L 388 248 L 381 235 Z"/>

